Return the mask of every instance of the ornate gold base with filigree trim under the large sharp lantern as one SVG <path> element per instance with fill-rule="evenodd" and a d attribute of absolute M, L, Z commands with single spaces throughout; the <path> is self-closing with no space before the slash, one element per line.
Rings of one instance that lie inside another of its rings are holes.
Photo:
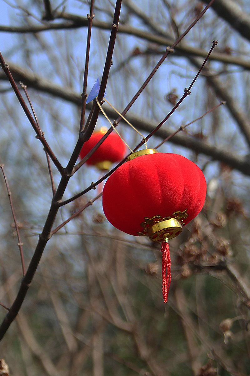
<path fill-rule="evenodd" d="M 139 236 L 148 236 L 152 241 L 163 241 L 164 239 L 172 239 L 179 235 L 182 231 L 184 220 L 187 218 L 187 209 L 183 212 L 174 212 L 170 217 L 161 217 L 155 215 L 152 218 L 145 217 L 145 221 L 141 223 L 143 231 L 138 232 Z"/>

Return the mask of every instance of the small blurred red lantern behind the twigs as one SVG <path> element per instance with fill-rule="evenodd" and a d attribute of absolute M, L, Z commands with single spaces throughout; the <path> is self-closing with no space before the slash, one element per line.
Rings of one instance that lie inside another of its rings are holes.
<path fill-rule="evenodd" d="M 80 157 L 84 158 L 106 132 L 107 128 L 102 127 L 99 132 L 93 133 L 90 139 L 84 143 Z M 100 170 L 109 170 L 112 163 L 119 162 L 123 159 L 125 150 L 126 146 L 117 133 L 110 133 L 86 163 L 88 165 L 94 165 Z"/>

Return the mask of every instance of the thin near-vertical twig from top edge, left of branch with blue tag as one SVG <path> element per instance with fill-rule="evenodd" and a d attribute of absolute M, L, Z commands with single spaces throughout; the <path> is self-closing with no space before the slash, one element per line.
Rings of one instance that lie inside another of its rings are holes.
<path fill-rule="evenodd" d="M 88 80 L 88 63 L 90 57 L 90 40 L 91 40 L 91 28 L 92 20 L 94 18 L 93 14 L 94 0 L 90 2 L 90 14 L 87 14 L 88 19 L 88 35 L 87 35 L 87 46 L 86 46 L 86 58 L 85 58 L 85 68 L 84 68 L 84 78 L 83 78 L 83 89 L 82 89 L 82 110 L 81 110 L 81 120 L 80 120 L 80 130 L 82 132 L 85 123 L 85 109 L 87 100 L 87 80 Z"/>

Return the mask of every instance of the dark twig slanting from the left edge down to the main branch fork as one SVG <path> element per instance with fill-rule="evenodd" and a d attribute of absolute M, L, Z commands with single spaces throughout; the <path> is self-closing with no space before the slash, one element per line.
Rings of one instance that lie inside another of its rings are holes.
<path fill-rule="evenodd" d="M 31 113 L 30 113 L 26 103 L 24 102 L 24 99 L 22 98 L 22 95 L 21 95 L 21 93 L 20 93 L 20 91 L 19 91 L 19 89 L 18 89 L 18 87 L 15 83 L 15 80 L 13 79 L 12 74 L 10 73 L 9 65 L 5 64 L 5 61 L 3 59 L 3 56 L 1 55 L 1 52 L 0 52 L 0 64 L 1 64 L 1 67 L 3 68 L 4 73 L 6 74 L 6 76 L 9 79 L 10 85 L 12 86 L 20 105 L 22 106 L 22 109 L 24 110 L 25 115 L 27 116 L 31 126 L 33 127 L 34 131 L 36 132 L 36 138 L 41 141 L 41 143 L 43 144 L 43 147 L 48 152 L 50 158 L 52 159 L 53 163 L 55 164 L 55 166 L 57 167 L 57 169 L 61 173 L 61 175 L 64 175 L 65 171 L 64 171 L 63 166 L 60 164 L 60 162 L 58 161 L 58 159 L 56 158 L 56 156 L 52 152 L 51 148 L 49 147 L 47 141 L 44 138 L 44 133 L 41 132 L 41 130 L 39 129 L 39 127 L 36 124 L 36 121 L 34 120 L 33 116 L 31 115 Z"/>

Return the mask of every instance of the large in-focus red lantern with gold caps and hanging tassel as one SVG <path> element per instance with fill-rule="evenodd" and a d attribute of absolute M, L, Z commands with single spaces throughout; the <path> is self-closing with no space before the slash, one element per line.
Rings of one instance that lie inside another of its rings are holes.
<path fill-rule="evenodd" d="M 103 211 L 113 226 L 130 235 L 163 242 L 165 303 L 171 280 L 168 239 L 179 235 L 182 226 L 196 217 L 205 196 L 205 177 L 195 163 L 154 149 L 130 155 L 103 188 Z"/>

